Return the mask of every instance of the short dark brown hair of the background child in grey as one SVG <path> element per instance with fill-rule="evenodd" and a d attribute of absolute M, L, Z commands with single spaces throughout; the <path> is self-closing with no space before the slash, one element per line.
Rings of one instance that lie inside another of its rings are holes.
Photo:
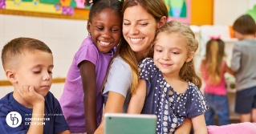
<path fill-rule="evenodd" d="M 256 33 L 256 23 L 250 15 L 242 15 L 234 22 L 233 30 L 242 35 L 254 35 Z"/>

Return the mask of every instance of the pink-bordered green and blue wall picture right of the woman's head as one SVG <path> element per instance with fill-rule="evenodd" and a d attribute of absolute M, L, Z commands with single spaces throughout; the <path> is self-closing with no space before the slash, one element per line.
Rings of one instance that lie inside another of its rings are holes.
<path fill-rule="evenodd" d="M 168 21 L 177 20 L 186 24 L 191 22 L 191 0 L 165 0 L 169 10 Z"/>

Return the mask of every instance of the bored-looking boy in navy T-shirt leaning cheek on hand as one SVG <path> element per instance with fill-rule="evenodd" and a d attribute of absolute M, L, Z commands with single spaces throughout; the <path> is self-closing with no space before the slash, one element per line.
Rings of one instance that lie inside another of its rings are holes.
<path fill-rule="evenodd" d="M 70 134 L 51 94 L 53 56 L 37 39 L 18 38 L 2 49 L 2 66 L 14 91 L 0 99 L 0 133 Z"/>

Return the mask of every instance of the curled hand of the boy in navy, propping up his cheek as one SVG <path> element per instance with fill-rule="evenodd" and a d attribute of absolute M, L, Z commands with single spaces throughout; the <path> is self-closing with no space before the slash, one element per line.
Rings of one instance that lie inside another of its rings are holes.
<path fill-rule="evenodd" d="M 44 103 L 43 95 L 37 93 L 33 86 L 22 86 L 18 89 L 18 94 L 25 99 L 27 103 L 35 106 L 36 104 Z"/>

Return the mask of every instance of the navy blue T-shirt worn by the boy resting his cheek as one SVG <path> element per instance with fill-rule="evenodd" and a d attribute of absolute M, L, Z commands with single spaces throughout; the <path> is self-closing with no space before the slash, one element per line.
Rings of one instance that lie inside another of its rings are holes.
<path fill-rule="evenodd" d="M 63 116 L 62 109 L 59 105 L 59 101 L 49 91 L 45 98 L 44 118 L 45 125 L 43 126 L 44 134 L 55 134 L 64 130 L 69 130 L 67 121 Z M 13 97 L 13 92 L 10 92 L 2 99 L 0 99 L 0 133 L 4 134 L 25 134 L 30 125 L 30 119 L 32 116 L 32 108 L 26 108 L 19 104 Z M 10 128 L 6 124 L 6 116 L 9 112 L 18 112 L 22 116 L 22 124 L 17 128 Z M 36 113 L 35 113 L 36 114 Z"/>

